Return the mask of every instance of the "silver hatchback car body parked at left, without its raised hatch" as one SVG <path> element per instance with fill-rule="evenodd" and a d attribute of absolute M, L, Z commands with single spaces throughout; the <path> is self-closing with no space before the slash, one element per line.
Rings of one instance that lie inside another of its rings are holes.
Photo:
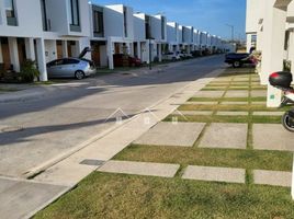
<path fill-rule="evenodd" d="M 93 61 L 82 58 L 63 58 L 47 64 L 48 78 L 83 79 L 95 73 Z"/>

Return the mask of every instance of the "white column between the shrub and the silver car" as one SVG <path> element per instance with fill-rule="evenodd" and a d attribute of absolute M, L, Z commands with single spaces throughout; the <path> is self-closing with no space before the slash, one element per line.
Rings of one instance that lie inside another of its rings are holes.
<path fill-rule="evenodd" d="M 47 81 L 47 68 L 46 68 L 46 58 L 45 58 L 45 44 L 43 38 L 36 39 L 36 55 L 37 55 L 37 68 L 39 71 L 39 80 Z"/>

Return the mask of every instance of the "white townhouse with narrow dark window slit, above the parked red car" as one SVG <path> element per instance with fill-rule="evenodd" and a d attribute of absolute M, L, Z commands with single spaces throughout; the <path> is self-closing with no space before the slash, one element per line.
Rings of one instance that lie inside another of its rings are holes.
<path fill-rule="evenodd" d="M 109 68 L 114 69 L 114 54 L 134 56 L 134 13 L 123 4 L 105 5 L 103 12 Z"/>

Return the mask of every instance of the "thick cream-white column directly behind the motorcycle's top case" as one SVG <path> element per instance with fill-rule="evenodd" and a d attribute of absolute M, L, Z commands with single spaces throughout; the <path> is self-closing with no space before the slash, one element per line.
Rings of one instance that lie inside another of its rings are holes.
<path fill-rule="evenodd" d="M 286 12 L 273 7 L 274 0 L 270 1 L 263 26 L 267 37 L 263 37 L 261 83 L 268 84 L 268 107 L 276 107 L 281 104 L 282 92 L 269 84 L 269 76 L 283 70 Z"/>

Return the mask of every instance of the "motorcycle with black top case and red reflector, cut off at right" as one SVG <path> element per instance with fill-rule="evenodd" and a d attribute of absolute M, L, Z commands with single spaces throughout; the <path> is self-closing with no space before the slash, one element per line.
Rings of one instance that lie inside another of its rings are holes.
<path fill-rule="evenodd" d="M 291 87 L 293 81 L 292 73 L 289 71 L 274 72 L 269 78 L 270 84 L 283 91 L 283 99 L 280 107 L 294 103 L 294 89 Z M 285 112 L 282 124 L 289 131 L 294 132 L 294 108 Z"/>

